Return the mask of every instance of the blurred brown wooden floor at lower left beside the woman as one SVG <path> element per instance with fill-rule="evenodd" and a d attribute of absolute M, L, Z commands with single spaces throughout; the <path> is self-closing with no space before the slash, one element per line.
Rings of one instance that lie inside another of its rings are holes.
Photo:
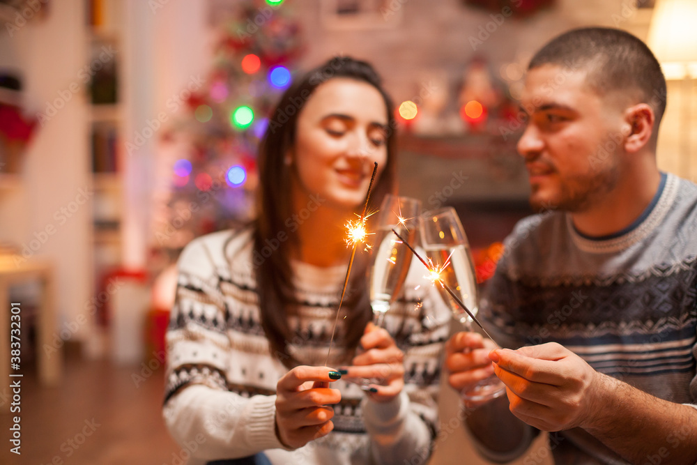
<path fill-rule="evenodd" d="M 180 454 L 181 448 L 167 434 L 160 415 L 162 368 L 144 376 L 137 387 L 133 374 L 142 376 L 141 367 L 78 357 L 66 359 L 61 385 L 56 388 L 38 386 L 36 377 L 26 373 L 22 378 L 22 455 L 9 451 L 11 417 L 1 413 L 0 464 L 180 463 L 173 454 Z M 4 388 L 0 386 L 0 404 L 7 400 Z"/>

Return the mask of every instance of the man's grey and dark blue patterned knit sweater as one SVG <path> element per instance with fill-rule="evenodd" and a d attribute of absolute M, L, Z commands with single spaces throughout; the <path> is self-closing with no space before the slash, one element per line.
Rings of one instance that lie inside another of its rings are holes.
<path fill-rule="evenodd" d="M 643 215 L 605 238 L 566 213 L 522 220 L 486 295 L 482 318 L 505 346 L 558 342 L 651 395 L 697 402 L 697 186 L 662 174 Z M 559 464 L 626 463 L 581 429 L 554 438 Z"/>

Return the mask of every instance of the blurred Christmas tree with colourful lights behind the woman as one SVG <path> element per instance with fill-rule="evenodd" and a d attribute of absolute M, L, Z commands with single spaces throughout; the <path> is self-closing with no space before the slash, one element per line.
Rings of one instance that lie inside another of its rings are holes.
<path fill-rule="evenodd" d="M 300 27 L 282 3 L 237 3 L 206 85 L 164 137 L 186 141 L 170 171 L 165 207 L 155 213 L 154 252 L 165 261 L 197 236 L 252 218 L 259 141 L 302 52 Z"/>

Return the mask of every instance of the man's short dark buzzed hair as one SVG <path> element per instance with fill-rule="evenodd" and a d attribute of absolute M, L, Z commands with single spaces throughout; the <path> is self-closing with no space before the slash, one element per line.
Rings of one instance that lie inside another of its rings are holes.
<path fill-rule="evenodd" d="M 649 47 L 630 33 L 606 27 L 573 29 L 542 47 L 528 70 L 545 64 L 588 70 L 586 82 L 599 95 L 636 89 L 654 110 L 656 127 L 661 122 L 666 78 Z"/>

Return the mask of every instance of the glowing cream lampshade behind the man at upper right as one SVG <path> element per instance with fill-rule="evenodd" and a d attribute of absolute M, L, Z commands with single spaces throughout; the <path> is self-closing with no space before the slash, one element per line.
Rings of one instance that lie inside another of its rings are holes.
<path fill-rule="evenodd" d="M 697 0 L 657 0 L 648 45 L 666 78 L 697 76 Z"/>

